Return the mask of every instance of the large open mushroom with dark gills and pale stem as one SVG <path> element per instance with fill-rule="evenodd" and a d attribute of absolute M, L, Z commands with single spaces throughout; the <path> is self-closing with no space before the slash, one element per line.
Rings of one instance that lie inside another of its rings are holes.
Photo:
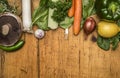
<path fill-rule="evenodd" d="M 0 45 L 12 46 L 21 37 L 21 19 L 9 12 L 0 14 Z"/>

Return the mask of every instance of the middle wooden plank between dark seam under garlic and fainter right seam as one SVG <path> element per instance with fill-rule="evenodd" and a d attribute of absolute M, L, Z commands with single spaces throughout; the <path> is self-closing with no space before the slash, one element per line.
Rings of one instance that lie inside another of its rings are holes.
<path fill-rule="evenodd" d="M 40 41 L 41 78 L 79 78 L 79 37 L 71 31 L 68 40 L 64 30 L 58 29 L 47 32 Z"/>

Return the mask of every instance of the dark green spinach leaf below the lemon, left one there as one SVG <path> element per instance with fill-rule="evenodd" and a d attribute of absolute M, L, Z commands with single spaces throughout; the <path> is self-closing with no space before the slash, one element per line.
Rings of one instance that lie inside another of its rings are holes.
<path fill-rule="evenodd" d="M 100 35 L 98 35 L 97 44 L 103 50 L 107 51 L 110 49 L 110 40 L 108 38 L 103 38 Z"/>

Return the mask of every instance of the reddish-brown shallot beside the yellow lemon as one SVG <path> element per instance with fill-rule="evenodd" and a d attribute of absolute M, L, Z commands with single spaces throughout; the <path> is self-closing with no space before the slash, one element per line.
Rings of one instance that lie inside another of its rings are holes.
<path fill-rule="evenodd" d="M 96 27 L 95 20 L 92 17 L 87 18 L 83 25 L 85 34 L 89 35 L 90 33 L 92 33 L 94 31 L 95 27 Z"/>

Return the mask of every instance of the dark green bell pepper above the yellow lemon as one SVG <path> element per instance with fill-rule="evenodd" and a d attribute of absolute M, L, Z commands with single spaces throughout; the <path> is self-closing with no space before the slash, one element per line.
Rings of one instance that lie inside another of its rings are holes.
<path fill-rule="evenodd" d="M 97 15 L 102 19 L 120 19 L 120 0 L 96 0 L 95 8 Z"/>

